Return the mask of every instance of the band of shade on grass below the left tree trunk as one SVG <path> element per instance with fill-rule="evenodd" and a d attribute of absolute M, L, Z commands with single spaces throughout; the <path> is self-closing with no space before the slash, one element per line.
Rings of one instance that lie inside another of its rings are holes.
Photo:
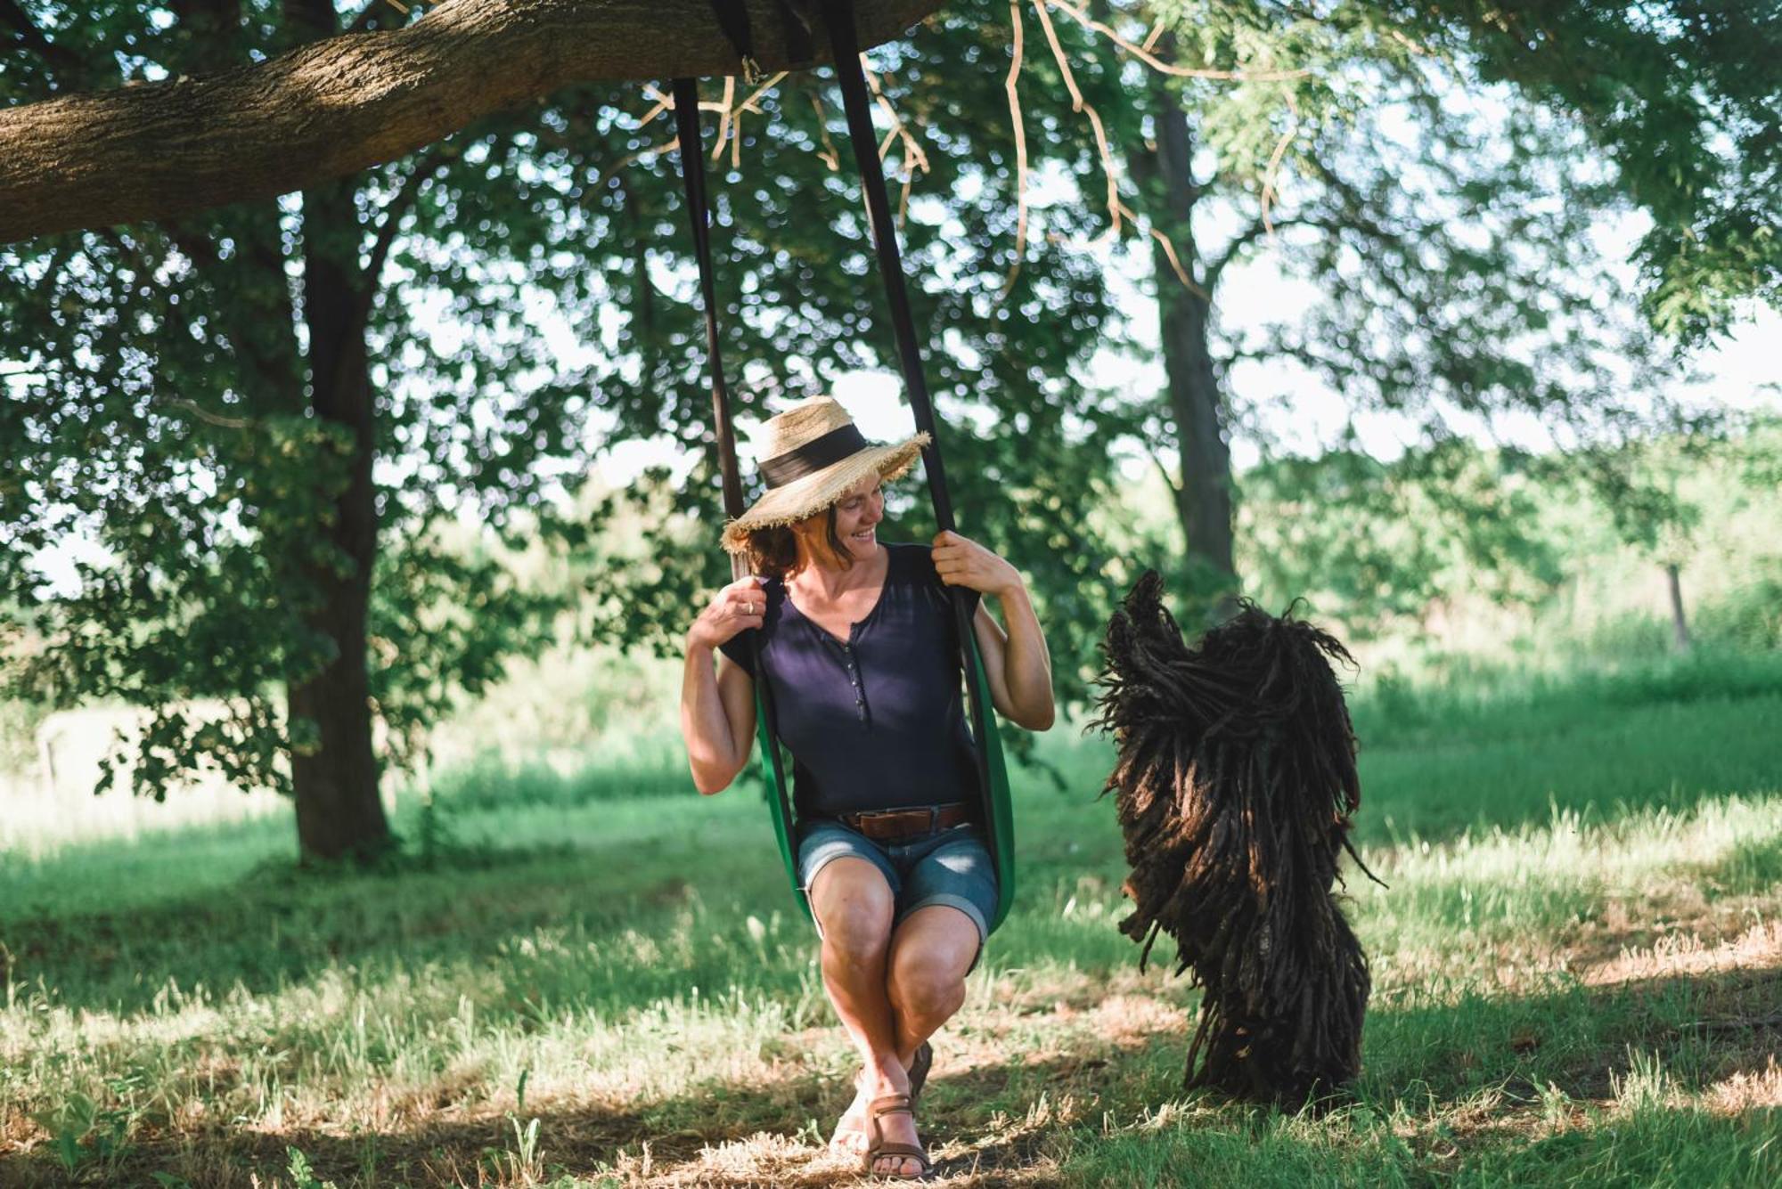
<path fill-rule="evenodd" d="M 736 872 L 716 865 L 734 876 L 722 901 L 770 902 L 777 872 L 731 861 Z M 476 870 L 315 876 L 280 867 L 127 911 L 5 920 L 0 943 L 18 995 L 41 988 L 59 1006 L 132 1015 L 178 1002 L 169 986 L 264 995 L 324 970 L 364 981 L 367 970 L 426 963 L 486 967 L 513 956 L 524 965 L 519 940 L 538 931 L 668 934 L 699 899 L 686 876 L 700 872 L 713 885 L 713 869 L 674 838 L 631 842 L 622 860 L 613 847 L 497 851 Z"/>

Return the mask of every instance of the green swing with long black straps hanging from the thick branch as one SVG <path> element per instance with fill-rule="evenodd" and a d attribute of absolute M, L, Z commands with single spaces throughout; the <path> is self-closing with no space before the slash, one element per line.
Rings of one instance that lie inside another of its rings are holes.
<path fill-rule="evenodd" d="M 715 0 L 713 9 L 720 16 L 732 48 L 736 48 L 738 62 L 747 69 L 754 57 L 747 9 L 734 0 Z M 873 244 L 879 251 L 879 274 L 884 279 L 891 324 L 896 331 L 903 384 L 909 392 L 916 427 L 930 436 L 930 445 L 923 450 L 928 498 L 934 502 L 936 523 L 943 530 L 950 530 L 953 529 L 952 498 L 946 489 L 946 472 L 941 466 L 939 433 L 934 418 L 934 404 L 928 399 L 928 384 L 921 372 L 921 352 L 909 311 L 909 295 L 903 292 L 903 265 L 898 255 L 896 231 L 891 226 L 891 208 L 886 201 L 884 173 L 879 166 L 879 146 L 870 116 L 871 100 L 866 93 L 866 77 L 861 71 L 854 11 L 848 0 L 825 0 L 822 9 L 830 36 L 836 80 L 841 84 L 843 107 L 848 116 L 848 139 L 854 146 L 855 166 L 861 173 L 861 189 L 866 194 Z M 795 20 L 795 12 L 789 9 L 782 9 L 782 16 Z M 798 30 L 788 28 L 788 32 L 797 34 Z M 693 226 L 693 249 L 699 258 L 700 297 L 706 306 L 706 349 L 711 363 L 711 402 L 718 436 L 718 463 L 723 473 L 723 506 L 729 516 L 740 516 L 743 511 L 743 491 L 736 466 L 736 438 L 731 429 L 729 392 L 723 383 L 723 360 L 718 352 L 716 287 L 709 239 L 711 210 L 706 201 L 706 155 L 704 139 L 699 130 L 699 82 L 693 78 L 674 80 L 674 96 L 681 141 L 681 178 L 686 185 L 688 219 Z M 736 577 L 741 575 L 738 573 Z M 962 598 L 962 593 L 957 594 Z M 971 707 L 971 733 L 978 753 L 980 821 L 989 835 L 991 861 L 996 867 L 996 915 L 989 922 L 991 929 L 996 929 L 1014 902 L 1014 812 L 1009 805 L 1009 771 L 1003 762 L 1001 739 L 996 733 L 996 714 L 991 708 L 984 659 L 978 655 L 978 644 L 960 598 L 955 598 L 953 605 L 960 634 L 960 669 L 966 678 L 966 694 Z M 761 671 L 759 664 L 756 671 Z M 761 774 L 766 785 L 768 813 L 773 819 L 773 837 L 779 840 L 781 860 L 786 863 L 786 876 L 791 879 L 798 908 L 809 917 L 809 899 L 798 886 L 793 801 L 786 790 L 786 762 L 781 755 L 779 740 L 773 737 L 773 707 L 766 696 L 766 682 L 756 682 L 756 730 L 761 744 Z"/>

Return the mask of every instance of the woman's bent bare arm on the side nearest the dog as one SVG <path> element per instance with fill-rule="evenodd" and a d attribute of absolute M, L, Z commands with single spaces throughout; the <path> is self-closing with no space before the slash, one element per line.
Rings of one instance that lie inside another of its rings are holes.
<path fill-rule="evenodd" d="M 984 655 L 991 701 L 1016 726 L 1030 732 L 1050 728 L 1057 717 L 1051 700 L 1051 655 L 1021 571 L 957 532 L 934 538 L 934 570 L 941 575 L 941 582 L 971 587 L 1001 603 L 1007 632 L 982 600 L 971 625 L 978 651 Z"/>

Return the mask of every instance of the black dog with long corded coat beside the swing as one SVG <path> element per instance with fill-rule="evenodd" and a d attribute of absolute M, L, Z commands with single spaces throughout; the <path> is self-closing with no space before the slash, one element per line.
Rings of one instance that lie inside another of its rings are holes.
<path fill-rule="evenodd" d="M 1187 1086 L 1299 1105 L 1361 1068 L 1367 958 L 1331 885 L 1361 803 L 1328 632 L 1253 603 L 1189 648 L 1146 571 L 1108 623 L 1094 726 L 1119 744 L 1121 931 L 1206 990 Z M 1356 856 L 1356 863 L 1360 858 Z M 1367 870 L 1363 867 L 1363 870 Z M 1370 872 L 1369 872 L 1370 874 Z"/>

